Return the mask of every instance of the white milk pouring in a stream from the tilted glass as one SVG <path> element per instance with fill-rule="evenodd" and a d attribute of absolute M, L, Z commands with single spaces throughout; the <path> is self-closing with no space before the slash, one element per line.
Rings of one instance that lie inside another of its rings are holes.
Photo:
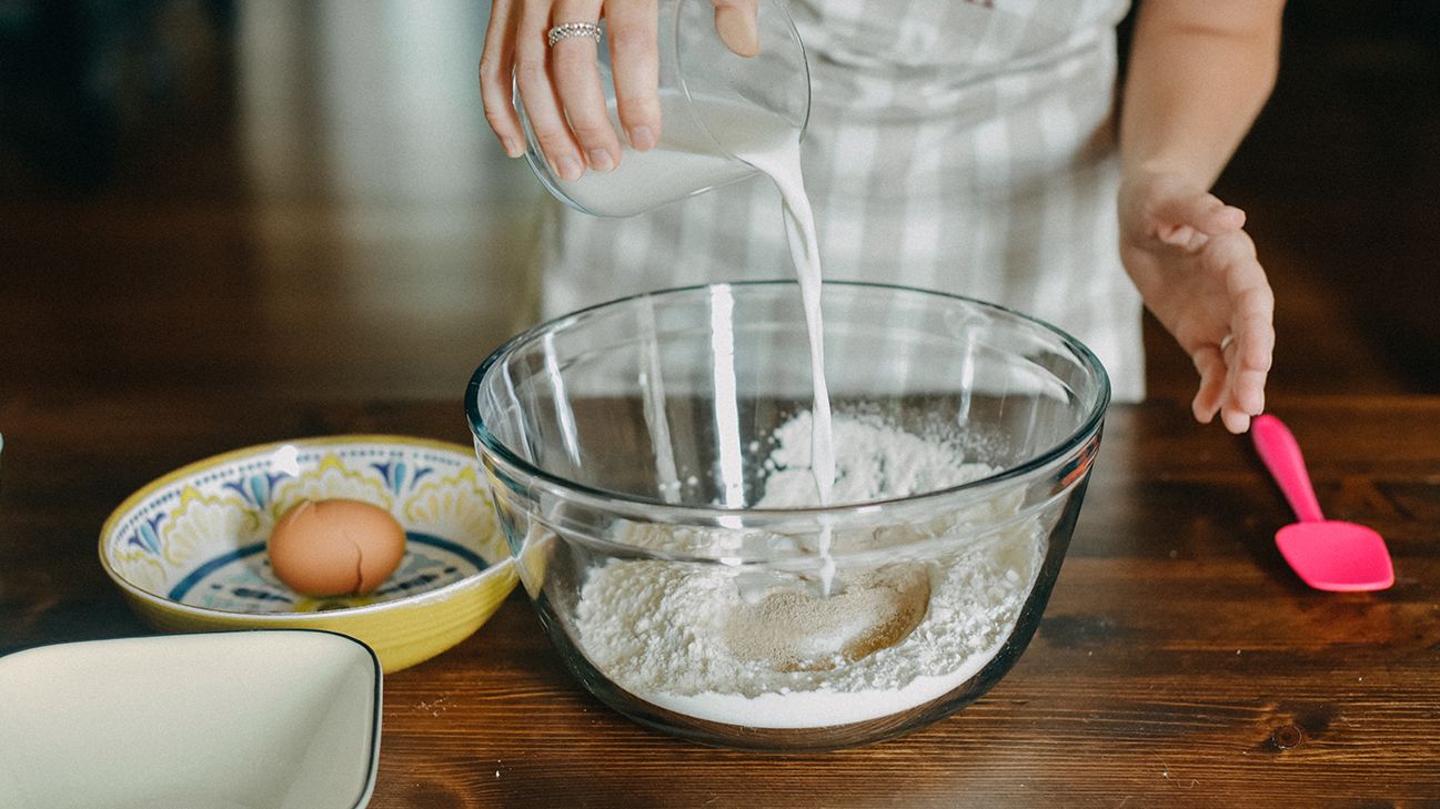
<path fill-rule="evenodd" d="M 588 171 L 579 180 L 560 186 L 570 199 L 592 213 L 629 216 L 701 189 L 739 180 L 756 168 L 770 177 L 780 191 L 785 235 L 791 243 L 791 261 L 795 263 L 809 334 L 814 384 L 811 472 L 815 476 L 818 504 L 829 505 L 835 488 L 835 449 L 829 389 L 825 384 L 819 240 L 801 173 L 799 130 L 785 118 L 753 107 L 719 99 L 687 101 L 675 92 L 662 92 L 660 99 L 664 121 L 660 145 L 644 153 L 626 148 L 613 171 Z M 613 105 L 611 117 L 618 127 Z M 701 127 L 701 119 L 708 131 Z M 721 148 L 734 157 L 726 157 Z M 657 438 L 655 426 L 651 420 L 652 438 Z M 668 435 L 664 438 L 668 446 Z M 835 580 L 831 534 L 831 525 L 822 517 L 816 553 L 821 559 L 821 590 L 827 596 Z"/>

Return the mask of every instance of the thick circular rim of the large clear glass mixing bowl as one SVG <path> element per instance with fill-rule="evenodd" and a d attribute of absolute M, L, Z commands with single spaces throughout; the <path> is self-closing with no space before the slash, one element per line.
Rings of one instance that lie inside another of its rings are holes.
<path fill-rule="evenodd" d="M 953 497 L 953 495 L 956 495 L 959 492 L 979 491 L 979 489 L 985 489 L 985 488 L 994 487 L 995 484 L 1001 484 L 1001 482 L 1005 482 L 1005 481 L 1011 481 L 1014 478 L 1025 476 L 1025 475 L 1028 475 L 1030 472 L 1032 472 L 1035 469 L 1041 469 L 1044 466 L 1048 466 L 1048 465 L 1054 464 L 1056 461 L 1064 458 L 1068 452 L 1083 448 L 1084 443 L 1086 443 L 1086 440 L 1089 440 L 1090 436 L 1099 433 L 1099 430 L 1100 430 L 1100 428 L 1102 428 L 1102 425 L 1104 422 L 1104 413 L 1106 413 L 1106 410 L 1110 406 L 1110 396 L 1112 396 L 1110 374 L 1109 374 L 1109 371 L 1106 371 L 1104 364 L 1100 363 L 1100 358 L 1094 354 L 1094 351 L 1090 350 L 1089 345 L 1086 345 L 1080 340 L 1074 338 L 1070 333 L 1064 331 L 1063 328 L 1060 328 L 1060 327 L 1057 327 L 1057 325 L 1054 325 L 1054 324 L 1051 324 L 1048 321 L 1040 320 L 1040 318 L 1032 317 L 1032 315 L 1027 315 L 1027 314 L 1024 314 L 1021 311 L 1012 309 L 1009 307 L 1004 307 L 1001 304 L 992 304 L 992 302 L 988 302 L 988 301 L 982 301 L 979 298 L 971 298 L 968 295 L 956 295 L 953 292 L 942 292 L 942 291 L 937 291 L 937 289 L 926 289 L 926 288 L 922 288 L 922 286 L 906 286 L 906 285 L 901 285 L 901 284 L 881 284 L 881 282 L 871 282 L 871 281 L 828 281 L 827 279 L 827 281 L 822 281 L 822 284 L 821 284 L 822 288 L 827 288 L 827 286 L 868 288 L 868 289 L 881 289 L 881 291 L 891 292 L 891 294 L 894 294 L 894 292 L 903 292 L 903 294 L 920 294 L 920 295 L 929 295 L 929 297 L 937 297 L 937 298 L 948 298 L 950 301 L 959 301 L 959 302 L 963 302 L 963 304 L 968 304 L 968 305 L 973 305 L 973 307 L 979 307 L 982 309 L 989 309 L 989 311 L 994 311 L 994 312 L 999 312 L 999 314 L 1004 314 L 1007 317 L 1017 318 L 1017 320 L 1021 320 L 1024 322 L 1037 325 L 1043 331 L 1048 331 L 1050 334 L 1053 334 L 1054 337 L 1057 337 L 1060 340 L 1060 343 L 1063 343 L 1067 348 L 1070 348 L 1076 354 L 1077 360 L 1080 360 L 1080 363 L 1084 367 L 1089 367 L 1090 370 L 1094 371 L 1096 380 L 1099 381 L 1099 396 L 1096 397 L 1094 406 L 1086 415 L 1084 420 L 1080 423 L 1079 428 L 1076 428 L 1074 430 L 1071 430 L 1068 435 L 1066 435 L 1066 438 L 1063 438 L 1061 440 L 1056 442 L 1054 445 L 1051 445 L 1045 451 L 1043 451 L 1043 452 L 1037 453 L 1035 456 L 1027 459 L 1024 464 L 1018 464 L 1018 465 L 1011 466 L 1008 469 L 1002 469 L 1001 472 L 996 472 L 994 475 L 986 475 L 984 478 L 968 481 L 968 482 L 963 482 L 963 484 L 959 484 L 959 485 L 955 485 L 955 487 L 949 487 L 949 488 L 943 488 L 943 489 L 936 489 L 936 491 L 930 491 L 930 492 L 924 492 L 924 494 L 917 494 L 917 495 L 910 495 L 910 497 L 896 497 L 896 498 L 886 498 L 886 500 L 874 500 L 874 501 L 865 501 L 865 502 L 858 502 L 858 504 L 857 502 L 851 502 L 851 504 L 825 505 L 825 507 L 811 505 L 811 507 L 789 507 L 789 508 L 776 508 L 776 507 L 755 508 L 755 507 L 749 507 L 749 508 L 740 508 L 740 510 L 737 510 L 737 508 L 727 508 L 727 507 L 721 507 L 721 505 L 700 505 L 700 504 L 677 505 L 677 504 L 672 504 L 672 502 L 665 502 L 665 501 L 658 500 L 658 498 L 648 498 L 648 497 L 634 495 L 634 494 L 628 494 L 628 492 L 618 492 L 618 491 L 611 491 L 611 489 L 602 489 L 602 488 L 590 487 L 590 485 L 586 485 L 586 484 L 579 484 L 579 482 L 575 482 L 575 481 L 567 481 L 567 479 L 564 479 L 564 478 L 562 478 L 559 475 L 554 475 L 554 474 L 550 474 L 550 472 L 547 472 L 544 469 L 540 469 L 539 466 L 536 466 L 536 465 L 530 464 L 528 461 L 526 461 L 526 459 L 520 458 L 518 455 L 516 455 L 504 442 L 501 442 L 492 432 L 490 432 L 490 429 L 485 426 L 484 419 L 481 419 L 481 416 L 480 416 L 478 396 L 480 396 L 480 389 L 481 389 L 482 380 L 485 379 L 485 376 L 488 374 L 488 371 L 492 367 L 498 366 L 500 361 L 504 357 L 507 357 L 508 354 L 511 354 L 518 345 L 533 341 L 534 338 L 537 338 L 540 334 L 544 334 L 546 331 L 554 331 L 554 330 L 569 328 L 576 321 L 583 320 L 585 317 L 588 317 L 588 315 L 590 315 L 590 314 L 593 314 L 593 312 L 596 312 L 599 309 L 605 309 L 605 308 L 611 308 L 611 307 L 618 307 L 618 305 L 622 305 L 622 304 L 629 304 L 629 302 L 641 301 L 641 299 L 645 299 L 645 298 L 664 298 L 664 297 L 672 297 L 672 295 L 694 294 L 694 292 L 701 291 L 701 289 L 713 289 L 713 288 L 721 288 L 721 286 L 727 286 L 727 288 L 799 286 L 799 282 L 796 279 L 785 279 L 785 278 L 757 279 L 757 281 L 726 281 L 726 282 L 714 282 L 714 284 L 691 284 L 691 285 L 685 285 L 685 286 L 671 286 L 671 288 L 667 288 L 667 289 L 655 289 L 655 291 L 649 291 L 649 292 L 639 292 L 639 294 L 635 294 L 635 295 L 625 295 L 625 297 L 621 297 L 621 298 L 615 298 L 615 299 L 611 299 L 611 301 L 605 301 L 605 302 L 600 302 L 600 304 L 585 307 L 585 308 L 576 309 L 576 311 L 569 312 L 569 314 L 563 314 L 563 315 L 556 317 L 556 318 L 550 318 L 547 321 L 543 321 L 543 322 L 540 322 L 537 325 L 533 325 L 533 327 L 530 327 L 530 328 L 527 328 L 527 330 L 516 334 L 510 340 L 505 340 L 504 343 L 501 343 L 494 351 L 490 353 L 490 356 L 485 357 L 484 361 L 481 361 L 480 367 L 475 369 L 475 373 L 471 374 L 469 383 L 465 386 L 465 420 L 469 423 L 469 432 L 475 438 L 477 449 L 480 449 L 482 446 L 485 451 L 488 451 L 490 453 L 492 453 L 492 456 L 495 459 L 498 459 L 500 462 L 503 462 L 504 465 L 511 466 L 511 468 L 520 471 L 521 474 L 524 474 L 530 479 L 540 481 L 541 484 L 544 484 L 546 487 L 552 488 L 553 491 L 563 492 L 566 495 L 566 498 L 569 498 L 569 500 L 577 501 L 577 502 L 589 505 L 589 507 L 606 508 L 606 510 L 616 510 L 616 507 L 622 507 L 622 505 L 641 507 L 641 508 L 645 508 L 647 514 L 651 515 L 651 520 L 658 520 L 658 521 L 668 521 L 668 523 L 678 523 L 678 524 L 719 523 L 719 521 L 721 521 L 721 518 L 732 517 L 732 515 L 734 515 L 739 511 L 743 511 L 744 514 L 749 514 L 749 515 L 753 515 L 753 517 L 759 517 L 759 518 L 765 518 L 765 517 L 802 518 L 802 517 L 806 517 L 806 515 L 814 515 L 814 517 L 827 515 L 827 517 L 835 518 L 837 515 L 855 515 L 855 514 L 873 512 L 873 511 L 876 511 L 876 510 L 878 510 L 881 507 L 893 507 L 893 505 L 897 505 L 897 504 L 910 505 L 910 504 L 919 504 L 919 502 L 929 501 L 930 498 Z M 796 295 L 798 295 L 798 292 L 796 292 Z M 487 462 L 487 465 L 488 465 L 488 462 L 491 462 L 491 458 L 485 456 L 484 453 L 482 453 L 481 459 L 484 462 Z"/>

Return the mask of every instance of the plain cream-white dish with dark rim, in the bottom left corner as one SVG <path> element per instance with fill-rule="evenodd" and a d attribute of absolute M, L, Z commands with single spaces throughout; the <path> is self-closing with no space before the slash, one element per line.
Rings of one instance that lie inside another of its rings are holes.
<path fill-rule="evenodd" d="M 0 806 L 356 809 L 380 664 L 305 629 L 59 643 L 0 658 Z"/>

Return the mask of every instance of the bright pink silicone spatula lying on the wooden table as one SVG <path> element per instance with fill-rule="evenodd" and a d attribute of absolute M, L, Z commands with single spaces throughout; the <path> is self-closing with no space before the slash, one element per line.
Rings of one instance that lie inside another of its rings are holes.
<path fill-rule="evenodd" d="M 1305 472 L 1305 456 L 1289 428 L 1264 415 L 1250 425 L 1250 435 L 1260 459 L 1300 518 L 1274 535 L 1274 544 L 1296 574 L 1318 590 L 1384 590 L 1394 584 L 1395 569 L 1380 534 L 1320 514 L 1315 487 Z"/>

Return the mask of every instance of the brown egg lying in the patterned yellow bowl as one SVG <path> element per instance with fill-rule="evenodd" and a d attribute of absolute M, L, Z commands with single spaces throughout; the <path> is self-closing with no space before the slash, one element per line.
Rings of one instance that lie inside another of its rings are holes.
<path fill-rule="evenodd" d="M 389 511 L 359 500 L 302 500 L 269 538 L 279 580 L 308 596 L 364 595 L 405 557 L 405 528 Z"/>

